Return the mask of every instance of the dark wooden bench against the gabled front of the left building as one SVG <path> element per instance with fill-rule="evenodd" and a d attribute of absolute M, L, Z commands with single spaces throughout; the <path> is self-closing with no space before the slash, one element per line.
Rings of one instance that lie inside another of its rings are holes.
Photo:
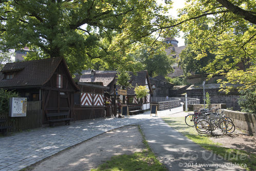
<path fill-rule="evenodd" d="M 47 120 L 49 121 L 49 126 L 54 127 L 55 123 L 60 123 L 65 121 L 65 125 L 70 125 L 71 118 L 67 118 L 69 112 L 60 113 L 46 113 Z"/>

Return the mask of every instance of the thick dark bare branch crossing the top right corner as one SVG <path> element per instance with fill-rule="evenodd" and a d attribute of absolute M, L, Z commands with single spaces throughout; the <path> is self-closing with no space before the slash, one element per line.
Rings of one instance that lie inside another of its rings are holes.
<path fill-rule="evenodd" d="M 228 0 L 216 0 L 218 3 L 222 4 L 225 8 L 227 8 L 229 11 L 233 12 L 236 15 L 241 16 L 248 22 L 252 24 L 256 24 L 256 16 L 250 13 L 249 11 L 246 11 L 232 3 L 230 3 Z"/>

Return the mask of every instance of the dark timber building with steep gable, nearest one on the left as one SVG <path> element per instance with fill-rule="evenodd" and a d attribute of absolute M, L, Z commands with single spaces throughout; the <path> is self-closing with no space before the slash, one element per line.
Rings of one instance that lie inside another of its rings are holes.
<path fill-rule="evenodd" d="M 69 112 L 74 116 L 74 92 L 79 91 L 63 58 L 7 63 L 0 72 L 0 88 L 15 90 L 28 101 L 42 101 L 45 113 Z"/>

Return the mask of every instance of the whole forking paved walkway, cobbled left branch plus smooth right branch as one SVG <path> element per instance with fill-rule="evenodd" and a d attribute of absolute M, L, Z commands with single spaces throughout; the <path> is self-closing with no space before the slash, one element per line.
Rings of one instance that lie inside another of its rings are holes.
<path fill-rule="evenodd" d="M 209 157 L 210 152 L 203 153 L 204 149 L 182 136 L 160 119 L 162 116 L 180 117 L 187 115 L 186 112 L 180 111 L 182 111 L 182 107 L 171 109 L 171 111 L 158 111 L 158 117 L 154 117 L 154 115 L 150 117 L 148 111 L 141 115 L 131 116 L 130 119 L 100 118 L 71 122 L 69 126 L 39 128 L 17 133 L 10 137 L 0 137 L 0 170 L 20 170 L 106 131 L 138 123 L 141 125 L 145 138 L 149 141 L 154 153 L 170 170 L 198 170 L 193 167 L 184 167 L 183 164 L 188 161 L 194 161 L 198 164 L 206 162 L 202 159 L 204 157 L 202 155 L 208 155 L 205 157 Z M 194 159 L 196 151 L 199 153 L 196 160 L 187 158 L 192 156 Z M 218 162 L 215 160 L 210 157 L 207 162 L 224 163 L 223 160 Z M 182 166 L 180 167 L 180 165 Z M 230 170 L 229 167 L 222 167 L 222 169 L 227 168 Z M 215 169 L 216 167 L 206 167 L 206 170 Z"/>

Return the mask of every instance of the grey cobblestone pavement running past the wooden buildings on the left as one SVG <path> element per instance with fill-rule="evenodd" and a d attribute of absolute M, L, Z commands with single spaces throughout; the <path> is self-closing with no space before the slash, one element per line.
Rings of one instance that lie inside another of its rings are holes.
<path fill-rule="evenodd" d="M 181 107 L 158 111 L 158 117 L 182 111 Z M 130 118 L 99 118 L 70 122 L 54 128 L 38 128 L 0 137 L 0 170 L 20 170 L 70 146 L 81 143 L 106 131 L 140 121 L 157 119 L 150 111 Z"/>

